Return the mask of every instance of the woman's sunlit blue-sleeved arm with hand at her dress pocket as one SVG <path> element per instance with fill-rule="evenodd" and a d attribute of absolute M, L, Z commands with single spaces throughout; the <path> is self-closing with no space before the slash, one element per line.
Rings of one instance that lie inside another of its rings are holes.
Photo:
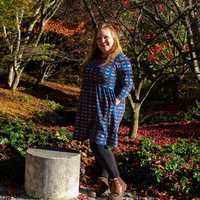
<path fill-rule="evenodd" d="M 133 85 L 133 72 L 132 65 L 128 57 L 124 54 L 121 54 L 116 64 L 116 70 L 118 72 L 119 79 L 119 88 L 116 91 L 116 104 L 119 104 L 121 101 L 125 100 L 132 89 Z"/>

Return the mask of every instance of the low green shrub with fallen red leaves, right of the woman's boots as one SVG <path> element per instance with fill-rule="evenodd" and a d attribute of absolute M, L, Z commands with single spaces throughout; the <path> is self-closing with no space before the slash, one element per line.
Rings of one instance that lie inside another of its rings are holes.
<path fill-rule="evenodd" d="M 177 144 L 160 146 L 143 138 L 138 150 L 123 154 L 118 164 L 124 180 L 135 187 L 143 185 L 147 190 L 154 187 L 173 195 L 189 195 L 200 189 L 199 155 L 196 140 L 179 139 Z"/>

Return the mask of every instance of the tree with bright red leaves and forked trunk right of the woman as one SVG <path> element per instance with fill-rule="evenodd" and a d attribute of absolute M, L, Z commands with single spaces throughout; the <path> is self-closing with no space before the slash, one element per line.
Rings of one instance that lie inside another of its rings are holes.
<path fill-rule="evenodd" d="M 181 0 L 90 1 L 93 10 L 100 6 L 109 22 L 115 25 L 132 61 L 134 84 L 128 96 L 131 137 L 137 135 L 140 108 L 159 79 L 183 75 L 189 67 L 199 81 L 198 3 Z M 100 12 L 96 15 L 101 16 Z"/>

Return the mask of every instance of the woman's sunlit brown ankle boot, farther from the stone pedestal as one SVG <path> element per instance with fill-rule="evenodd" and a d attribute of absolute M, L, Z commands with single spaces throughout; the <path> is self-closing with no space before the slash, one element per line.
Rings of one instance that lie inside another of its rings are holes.
<path fill-rule="evenodd" d="M 119 200 L 123 197 L 126 190 L 126 183 L 119 177 L 112 179 L 112 190 L 109 196 L 109 200 Z"/>

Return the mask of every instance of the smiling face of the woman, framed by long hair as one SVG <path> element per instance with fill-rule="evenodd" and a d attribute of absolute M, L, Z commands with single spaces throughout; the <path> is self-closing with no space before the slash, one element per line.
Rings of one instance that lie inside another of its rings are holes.
<path fill-rule="evenodd" d="M 102 57 L 107 57 L 114 44 L 114 38 L 107 29 L 100 29 L 97 33 L 97 46 L 102 52 Z"/>

